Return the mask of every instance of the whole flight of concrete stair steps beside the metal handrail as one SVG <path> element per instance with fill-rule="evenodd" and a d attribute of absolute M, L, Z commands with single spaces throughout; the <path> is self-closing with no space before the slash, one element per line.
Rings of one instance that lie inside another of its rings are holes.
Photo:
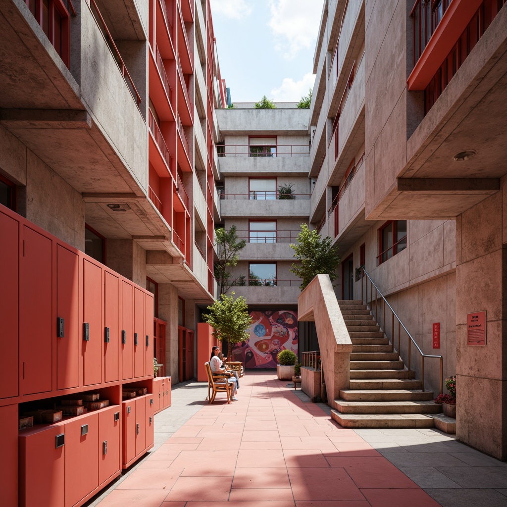
<path fill-rule="evenodd" d="M 350 389 L 340 391 L 332 417 L 349 428 L 429 428 L 442 409 L 422 392 L 361 301 L 338 301 L 350 339 Z M 431 414 L 434 414 L 432 416 Z"/>

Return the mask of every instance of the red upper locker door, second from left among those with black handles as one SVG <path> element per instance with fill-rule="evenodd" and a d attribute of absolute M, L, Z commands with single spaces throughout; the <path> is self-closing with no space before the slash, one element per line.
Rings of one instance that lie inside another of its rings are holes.
<path fill-rule="evenodd" d="M 84 385 L 102 382 L 102 269 L 83 260 L 83 322 L 89 324 L 89 340 L 83 336 Z"/>

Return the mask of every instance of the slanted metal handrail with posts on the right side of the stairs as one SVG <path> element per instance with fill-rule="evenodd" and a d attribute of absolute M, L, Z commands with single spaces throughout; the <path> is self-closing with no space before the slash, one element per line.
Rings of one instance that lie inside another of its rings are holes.
<path fill-rule="evenodd" d="M 401 334 L 402 334 L 401 329 L 403 328 L 405 330 L 405 333 L 407 333 L 407 336 L 408 336 L 408 364 L 407 364 L 407 368 L 409 371 L 409 375 L 410 375 L 410 372 L 412 371 L 412 368 L 411 368 L 412 344 L 414 344 L 417 351 L 419 352 L 419 354 L 421 356 L 421 387 L 422 387 L 423 392 L 424 392 L 424 358 L 429 357 L 429 358 L 434 358 L 434 359 L 440 360 L 440 392 L 439 392 L 439 394 L 442 394 L 442 384 L 443 384 L 443 376 L 442 376 L 443 359 L 442 359 L 442 356 L 441 355 L 425 354 L 421 350 L 419 345 L 417 345 L 417 342 L 414 340 L 414 337 L 410 334 L 409 330 L 405 327 L 405 324 L 401 321 L 400 317 L 396 315 L 396 312 L 393 310 L 392 306 L 389 304 L 387 299 L 385 299 L 384 295 L 379 291 L 379 288 L 377 287 L 377 285 L 375 285 L 375 282 L 372 280 L 371 276 L 367 273 L 365 268 L 362 266 L 361 266 L 361 273 L 363 274 L 363 276 L 361 276 L 361 300 L 366 305 L 368 305 L 368 304 L 370 305 L 370 311 L 374 315 L 375 320 L 377 322 L 378 322 L 379 296 L 381 298 L 380 301 L 381 301 L 381 305 L 382 305 L 382 309 L 383 309 L 382 328 L 383 328 L 384 333 L 385 333 L 385 329 L 386 329 L 386 327 L 385 327 L 385 309 L 387 307 L 387 308 L 389 308 L 389 310 L 391 310 L 391 333 L 392 333 L 391 342 L 393 345 L 394 345 L 394 329 L 395 329 L 394 328 L 394 319 L 396 319 L 396 321 L 398 323 L 398 325 L 397 325 L 397 328 L 398 328 L 398 348 L 397 348 L 397 351 L 398 351 L 398 354 L 400 354 L 400 357 L 401 357 L 400 345 L 401 345 Z M 364 283 L 363 283 L 363 280 L 364 280 Z M 370 281 L 370 300 L 368 300 L 368 281 Z M 373 288 L 374 287 L 375 287 L 375 301 L 373 300 Z M 374 303 L 375 303 L 375 312 L 373 311 Z"/>

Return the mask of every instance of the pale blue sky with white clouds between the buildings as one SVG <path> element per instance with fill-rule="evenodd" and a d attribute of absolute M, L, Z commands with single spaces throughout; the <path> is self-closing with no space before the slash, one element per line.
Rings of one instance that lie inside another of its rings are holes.
<path fill-rule="evenodd" d="M 299 102 L 313 88 L 323 0 L 210 0 L 232 102 Z"/>

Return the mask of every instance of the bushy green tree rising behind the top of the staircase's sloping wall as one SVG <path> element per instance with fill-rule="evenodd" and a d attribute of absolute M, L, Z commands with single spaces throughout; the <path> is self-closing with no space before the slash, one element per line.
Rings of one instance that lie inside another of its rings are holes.
<path fill-rule="evenodd" d="M 301 224 L 297 244 L 289 245 L 294 251 L 294 257 L 301 264 L 294 264 L 290 271 L 302 279 L 299 286 L 303 290 L 316 275 L 329 275 L 334 280 L 338 275 L 336 269 L 340 265 L 338 247 L 332 246 L 332 239 L 326 236 L 322 239 L 316 229 L 310 231 L 306 224 Z"/>

